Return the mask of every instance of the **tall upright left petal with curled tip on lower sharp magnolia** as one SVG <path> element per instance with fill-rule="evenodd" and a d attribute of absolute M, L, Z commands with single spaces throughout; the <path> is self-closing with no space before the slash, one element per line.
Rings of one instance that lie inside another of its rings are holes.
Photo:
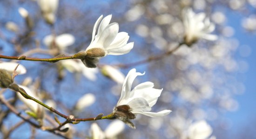
<path fill-rule="evenodd" d="M 131 69 L 128 72 L 128 74 L 123 82 L 121 97 L 120 97 L 119 101 L 117 102 L 117 105 L 120 103 L 121 100 L 129 99 L 133 81 L 135 80 L 136 76 L 142 76 L 144 74 L 145 74 L 145 72 L 143 74 L 136 72 L 136 69 Z"/>

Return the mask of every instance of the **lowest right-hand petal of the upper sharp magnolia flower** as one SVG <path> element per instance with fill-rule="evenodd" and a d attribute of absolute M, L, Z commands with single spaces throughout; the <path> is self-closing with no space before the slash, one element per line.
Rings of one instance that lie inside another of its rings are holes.
<path fill-rule="evenodd" d="M 123 55 L 127 54 L 133 49 L 134 42 L 123 45 L 119 48 L 108 49 L 108 55 Z"/>

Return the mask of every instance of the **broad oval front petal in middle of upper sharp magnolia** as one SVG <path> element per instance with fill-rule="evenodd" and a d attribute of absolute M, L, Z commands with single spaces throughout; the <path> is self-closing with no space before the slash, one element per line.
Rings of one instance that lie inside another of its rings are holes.
<path fill-rule="evenodd" d="M 108 47 L 115 39 L 118 33 L 118 30 L 119 30 L 119 26 L 117 23 L 109 24 L 101 33 L 97 43 L 99 46 L 96 46 L 96 47 L 104 47 L 104 48 Z"/>

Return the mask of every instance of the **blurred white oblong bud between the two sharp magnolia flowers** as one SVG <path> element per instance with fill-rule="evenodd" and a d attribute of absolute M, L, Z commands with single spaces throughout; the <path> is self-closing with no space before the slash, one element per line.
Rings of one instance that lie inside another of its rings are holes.
<path fill-rule="evenodd" d="M 122 84 L 125 79 L 125 76 L 118 69 L 109 65 L 103 66 L 101 72 L 104 76 L 107 76 L 108 78 L 120 84 Z"/>

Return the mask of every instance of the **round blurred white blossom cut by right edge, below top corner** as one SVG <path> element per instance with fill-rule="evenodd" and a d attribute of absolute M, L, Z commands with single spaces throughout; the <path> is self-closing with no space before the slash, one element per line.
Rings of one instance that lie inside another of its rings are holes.
<path fill-rule="evenodd" d="M 251 15 L 242 20 L 242 26 L 248 31 L 256 31 L 256 15 Z"/>

